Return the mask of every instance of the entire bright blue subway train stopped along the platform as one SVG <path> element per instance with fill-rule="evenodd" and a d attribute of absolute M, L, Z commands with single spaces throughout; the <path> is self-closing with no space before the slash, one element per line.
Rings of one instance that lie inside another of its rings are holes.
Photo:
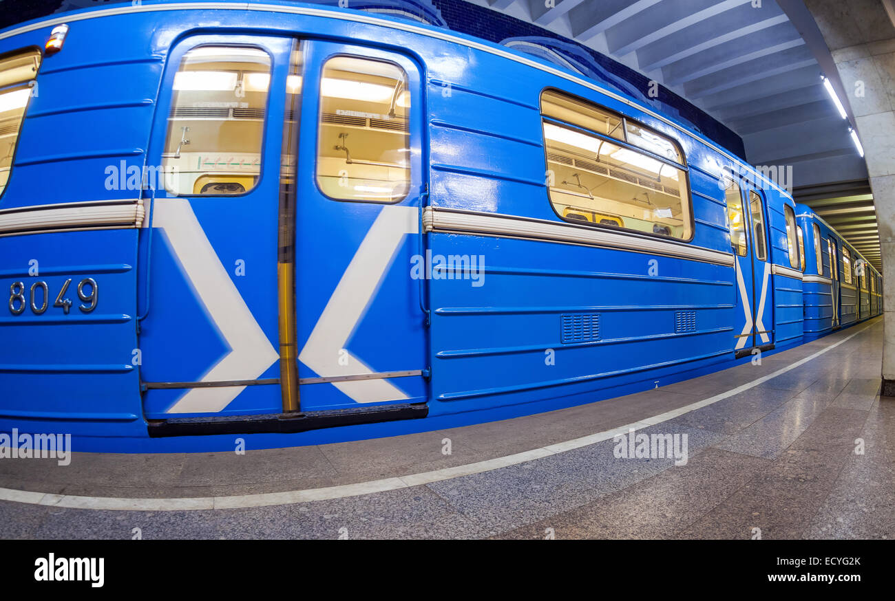
<path fill-rule="evenodd" d="M 848 242 L 685 124 L 544 56 L 338 8 L 0 32 L 0 191 L 0 431 L 76 451 L 506 419 L 882 310 Z"/>

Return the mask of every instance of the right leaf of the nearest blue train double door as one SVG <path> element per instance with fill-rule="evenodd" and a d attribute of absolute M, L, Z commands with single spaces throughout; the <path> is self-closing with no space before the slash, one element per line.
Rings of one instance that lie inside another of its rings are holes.
<path fill-rule="evenodd" d="M 425 402 L 422 70 L 322 41 L 301 42 L 293 68 L 296 404 Z"/>

